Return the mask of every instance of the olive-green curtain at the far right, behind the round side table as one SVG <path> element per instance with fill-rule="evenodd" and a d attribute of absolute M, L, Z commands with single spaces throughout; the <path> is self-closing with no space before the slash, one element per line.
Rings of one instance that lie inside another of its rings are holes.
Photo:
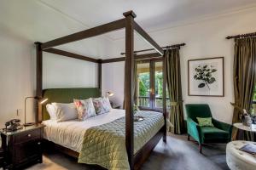
<path fill-rule="evenodd" d="M 250 111 L 253 101 L 253 88 L 256 80 L 256 37 L 240 38 L 235 40 L 234 56 L 234 91 L 235 104 L 232 122 L 241 122 L 242 109 Z M 232 134 L 236 139 L 237 129 Z M 243 139 L 250 140 L 247 133 Z"/>

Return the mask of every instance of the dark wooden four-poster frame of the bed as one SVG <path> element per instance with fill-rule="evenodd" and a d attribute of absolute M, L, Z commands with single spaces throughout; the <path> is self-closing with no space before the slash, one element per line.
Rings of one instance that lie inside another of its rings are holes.
<path fill-rule="evenodd" d="M 163 116 L 165 118 L 165 126 L 162 127 L 159 133 L 148 141 L 143 148 L 137 151 L 134 155 L 134 141 L 133 141 L 133 93 L 132 93 L 132 80 L 134 77 L 134 62 L 136 59 L 147 59 L 147 58 L 159 58 L 164 54 L 164 51 L 160 46 L 154 42 L 154 40 L 148 36 L 148 33 L 139 26 L 134 18 L 136 14 L 133 11 L 128 11 L 124 13 L 125 18 L 121 20 L 116 20 L 102 26 L 96 26 L 85 31 L 79 31 L 73 33 L 66 37 L 60 37 L 49 42 L 35 42 L 37 46 L 37 96 L 43 96 L 42 88 L 42 60 L 43 52 L 48 52 L 51 54 L 60 54 L 63 56 L 71 57 L 74 59 L 83 59 L 98 64 L 98 88 L 102 88 L 102 64 L 109 62 L 117 62 L 125 60 L 125 145 L 127 150 L 128 161 L 130 163 L 131 169 L 138 169 L 141 167 L 143 161 L 147 159 L 150 152 L 154 149 L 154 146 L 159 142 L 161 137 L 166 142 L 166 90 L 163 90 Z M 53 48 L 61 44 L 68 42 L 75 42 L 89 37 L 96 37 L 107 33 L 109 31 L 117 31 L 119 29 L 125 28 L 125 57 L 115 58 L 115 59 L 93 59 L 87 56 L 69 53 L 60 49 Z M 134 54 L 134 30 L 139 33 L 143 39 L 145 39 L 149 44 L 151 44 L 157 53 L 153 54 Z M 163 59 L 165 60 L 165 59 Z M 163 68 L 163 89 L 166 89 L 166 66 Z M 42 122 L 42 106 L 38 105 L 38 114 L 36 116 L 36 121 Z M 61 147 L 59 145 L 59 147 Z M 78 153 L 73 150 L 64 149 L 61 147 L 62 151 L 65 151 L 68 155 L 78 156 Z"/>

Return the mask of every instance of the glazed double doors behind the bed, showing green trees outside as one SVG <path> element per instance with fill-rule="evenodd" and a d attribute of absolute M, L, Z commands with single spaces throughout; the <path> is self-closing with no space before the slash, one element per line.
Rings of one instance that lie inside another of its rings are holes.
<path fill-rule="evenodd" d="M 160 111 L 163 107 L 163 61 L 137 63 L 136 103 L 144 110 Z M 167 98 L 166 98 L 167 99 Z M 167 101 L 166 104 L 169 102 Z"/>

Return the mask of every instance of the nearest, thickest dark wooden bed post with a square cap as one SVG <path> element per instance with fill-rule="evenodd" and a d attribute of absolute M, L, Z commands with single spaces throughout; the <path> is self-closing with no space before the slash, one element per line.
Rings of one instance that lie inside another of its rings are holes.
<path fill-rule="evenodd" d="M 125 16 L 125 144 L 131 170 L 134 169 L 133 139 L 133 71 L 134 71 L 134 18 L 133 11 Z"/>

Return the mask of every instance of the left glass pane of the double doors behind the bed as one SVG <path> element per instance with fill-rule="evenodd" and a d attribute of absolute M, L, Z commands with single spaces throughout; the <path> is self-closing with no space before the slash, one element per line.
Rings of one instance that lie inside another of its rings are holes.
<path fill-rule="evenodd" d="M 137 105 L 150 107 L 150 71 L 149 63 L 137 64 Z"/>

